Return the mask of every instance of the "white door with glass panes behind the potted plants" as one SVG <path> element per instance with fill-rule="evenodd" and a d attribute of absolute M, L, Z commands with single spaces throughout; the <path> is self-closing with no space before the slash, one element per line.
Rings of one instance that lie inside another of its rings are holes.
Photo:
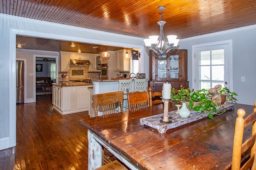
<path fill-rule="evenodd" d="M 229 88 L 228 44 L 195 49 L 196 89 L 209 89 L 217 84 Z"/>

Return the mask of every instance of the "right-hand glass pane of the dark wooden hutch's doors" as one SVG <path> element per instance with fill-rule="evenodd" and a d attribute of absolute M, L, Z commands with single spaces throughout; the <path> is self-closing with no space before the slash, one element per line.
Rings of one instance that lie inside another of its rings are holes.
<path fill-rule="evenodd" d="M 179 55 L 170 55 L 170 79 L 179 78 Z"/>

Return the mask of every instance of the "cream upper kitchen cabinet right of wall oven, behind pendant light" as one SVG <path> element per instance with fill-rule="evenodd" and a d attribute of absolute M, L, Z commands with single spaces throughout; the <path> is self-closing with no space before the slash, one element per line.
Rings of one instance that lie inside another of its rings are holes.
<path fill-rule="evenodd" d="M 130 71 L 130 59 L 124 59 L 124 50 L 114 52 L 114 70 L 115 71 Z"/>

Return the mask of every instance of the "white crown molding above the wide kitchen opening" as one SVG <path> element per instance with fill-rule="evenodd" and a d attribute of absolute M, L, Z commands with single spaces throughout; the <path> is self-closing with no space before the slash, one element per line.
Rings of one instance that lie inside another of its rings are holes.
<path fill-rule="evenodd" d="M 0 14 L 0 18 L 9 19 L 9 20 L 16 20 L 16 21 L 22 21 L 22 22 L 29 22 L 29 23 L 42 24 L 42 25 L 59 27 L 59 28 L 64 28 L 64 29 L 72 29 L 73 31 L 74 30 L 76 30 L 76 31 L 84 31 L 84 32 L 88 32 L 88 33 L 97 33 L 97 34 L 109 35 L 109 36 L 120 37 L 120 38 L 129 38 L 129 39 L 140 40 L 140 41 L 142 41 L 144 39 L 144 38 L 140 38 L 140 37 L 132 37 L 132 36 L 129 36 L 129 35 L 109 33 L 109 32 L 104 32 L 104 31 L 97 31 L 97 30 L 94 30 L 94 29 L 87 29 L 87 28 L 82 28 L 82 27 L 74 27 L 74 26 L 71 26 L 71 25 L 64 25 L 64 24 L 53 23 L 53 22 L 48 22 L 48 21 L 40 21 L 40 20 L 35 20 L 35 19 L 30 19 L 30 18 L 11 16 L 11 15 L 7 15 L 7 14 Z"/>

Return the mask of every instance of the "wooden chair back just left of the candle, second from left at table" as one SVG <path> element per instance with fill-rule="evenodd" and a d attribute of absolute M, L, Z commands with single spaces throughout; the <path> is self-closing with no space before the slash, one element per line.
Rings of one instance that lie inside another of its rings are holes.
<path fill-rule="evenodd" d="M 144 92 L 129 92 L 127 91 L 128 108 L 130 111 L 134 111 L 143 107 L 150 106 L 148 89 Z"/>

